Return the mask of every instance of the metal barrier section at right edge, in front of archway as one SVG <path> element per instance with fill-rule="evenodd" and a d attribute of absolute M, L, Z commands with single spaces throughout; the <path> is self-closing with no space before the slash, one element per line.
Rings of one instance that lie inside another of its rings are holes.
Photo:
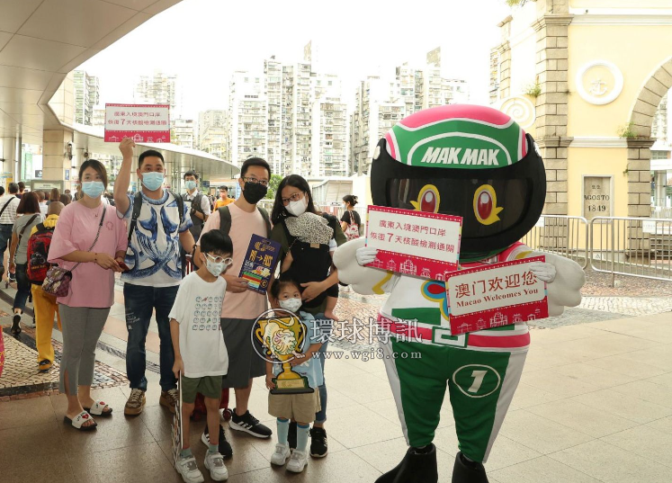
<path fill-rule="evenodd" d="M 672 281 L 672 219 L 590 220 L 590 266 L 596 272 Z"/>

